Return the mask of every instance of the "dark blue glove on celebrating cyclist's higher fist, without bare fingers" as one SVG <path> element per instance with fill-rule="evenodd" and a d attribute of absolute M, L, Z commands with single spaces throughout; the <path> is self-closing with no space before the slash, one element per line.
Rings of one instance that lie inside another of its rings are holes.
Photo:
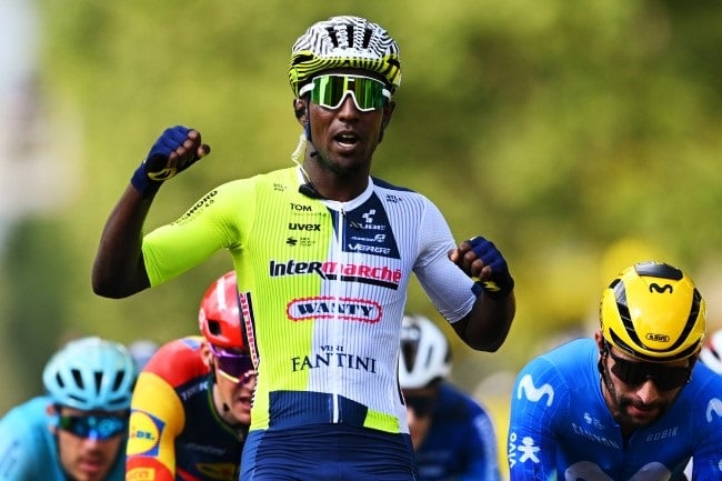
<path fill-rule="evenodd" d="M 188 140 L 188 132 L 191 130 L 183 126 L 170 127 L 153 143 L 148 157 L 130 179 L 142 197 L 154 194 L 163 181 L 188 169 L 199 159 L 194 152 L 183 158 L 173 159 L 172 162 L 169 159 L 170 154 Z M 203 146 L 203 149 L 205 152 L 210 152 L 210 147 Z"/>

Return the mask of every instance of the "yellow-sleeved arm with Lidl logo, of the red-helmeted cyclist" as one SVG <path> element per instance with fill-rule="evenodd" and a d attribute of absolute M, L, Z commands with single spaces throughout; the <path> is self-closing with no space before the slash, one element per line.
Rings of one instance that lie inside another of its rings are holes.
<path fill-rule="evenodd" d="M 152 372 L 141 372 L 131 403 L 126 479 L 174 481 L 176 438 L 184 424 L 173 388 Z"/>

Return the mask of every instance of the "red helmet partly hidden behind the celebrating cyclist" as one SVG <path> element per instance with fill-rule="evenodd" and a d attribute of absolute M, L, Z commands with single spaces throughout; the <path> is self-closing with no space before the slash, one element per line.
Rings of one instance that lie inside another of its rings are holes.
<path fill-rule="evenodd" d="M 247 351 L 241 318 L 235 272 L 230 271 L 218 278 L 205 291 L 198 313 L 198 324 L 211 344 Z"/>

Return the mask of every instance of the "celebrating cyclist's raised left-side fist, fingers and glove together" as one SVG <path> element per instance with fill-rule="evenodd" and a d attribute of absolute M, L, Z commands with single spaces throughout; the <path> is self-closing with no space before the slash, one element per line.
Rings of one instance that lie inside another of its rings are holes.
<path fill-rule="evenodd" d="M 199 131 L 183 126 L 170 127 L 153 143 L 130 181 L 141 196 L 151 196 L 158 192 L 163 181 L 188 169 L 210 151 L 210 146 L 201 143 Z"/>

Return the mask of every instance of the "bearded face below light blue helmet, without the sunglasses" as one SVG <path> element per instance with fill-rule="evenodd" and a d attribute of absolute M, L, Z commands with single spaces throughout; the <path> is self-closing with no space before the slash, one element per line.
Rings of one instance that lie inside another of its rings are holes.
<path fill-rule="evenodd" d="M 60 415 L 87 415 L 89 412 L 61 408 Z M 126 433 L 119 433 L 107 440 L 80 438 L 67 430 L 58 429 L 58 453 L 63 470 L 76 481 L 104 480 L 118 454 Z"/>

